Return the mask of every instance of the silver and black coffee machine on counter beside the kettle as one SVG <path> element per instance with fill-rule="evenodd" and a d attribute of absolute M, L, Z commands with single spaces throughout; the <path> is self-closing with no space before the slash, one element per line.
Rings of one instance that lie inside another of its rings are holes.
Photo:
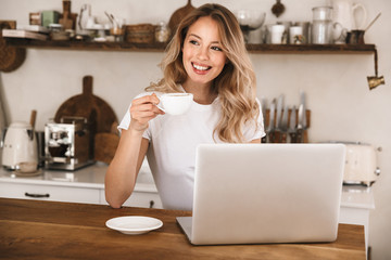
<path fill-rule="evenodd" d="M 45 166 L 77 170 L 93 164 L 93 135 L 87 118 L 63 117 L 45 126 Z"/>

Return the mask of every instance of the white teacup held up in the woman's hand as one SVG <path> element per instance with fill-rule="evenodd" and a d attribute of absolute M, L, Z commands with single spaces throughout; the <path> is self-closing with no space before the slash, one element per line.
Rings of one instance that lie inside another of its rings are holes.
<path fill-rule="evenodd" d="M 166 93 L 160 98 L 157 107 L 169 115 L 178 116 L 188 112 L 192 100 L 191 93 Z"/>

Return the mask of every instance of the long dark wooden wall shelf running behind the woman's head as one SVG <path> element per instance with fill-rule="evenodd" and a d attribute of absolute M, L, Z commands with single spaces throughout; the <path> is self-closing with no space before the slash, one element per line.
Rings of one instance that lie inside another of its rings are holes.
<path fill-rule="evenodd" d="M 83 51 L 148 51 L 163 52 L 165 43 L 92 42 L 92 41 L 40 41 L 5 38 L 7 43 L 20 48 L 83 50 Z M 375 44 L 248 44 L 250 53 L 374 53 Z"/>

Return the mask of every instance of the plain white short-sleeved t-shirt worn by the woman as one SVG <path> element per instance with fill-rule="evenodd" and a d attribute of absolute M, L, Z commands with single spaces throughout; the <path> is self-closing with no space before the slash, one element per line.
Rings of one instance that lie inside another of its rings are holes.
<path fill-rule="evenodd" d="M 135 99 L 151 93 L 144 92 Z M 157 98 L 162 94 L 154 93 Z M 185 115 L 159 115 L 149 122 L 143 133 L 150 142 L 147 157 L 165 209 L 192 209 L 195 148 L 201 143 L 222 143 L 216 134 L 215 140 L 212 136 L 219 114 L 217 98 L 210 105 L 192 102 Z M 128 129 L 129 123 L 128 109 L 118 129 Z M 247 142 L 265 135 L 262 113 L 257 123 L 257 129 L 253 126 L 244 130 Z"/>

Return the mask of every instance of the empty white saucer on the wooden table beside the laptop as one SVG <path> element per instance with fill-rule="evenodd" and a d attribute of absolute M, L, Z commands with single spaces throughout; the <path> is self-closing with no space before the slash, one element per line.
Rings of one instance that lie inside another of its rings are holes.
<path fill-rule="evenodd" d="M 127 235 L 139 235 L 161 227 L 163 222 L 151 217 L 128 216 L 110 219 L 105 225 Z"/>

